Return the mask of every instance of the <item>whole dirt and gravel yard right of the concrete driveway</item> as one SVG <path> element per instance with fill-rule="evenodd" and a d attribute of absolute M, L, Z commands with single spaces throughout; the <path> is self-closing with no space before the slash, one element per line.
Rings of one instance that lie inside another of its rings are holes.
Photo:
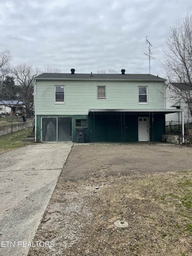
<path fill-rule="evenodd" d="M 75 145 L 28 256 L 192 255 L 191 170 L 183 146 Z"/>

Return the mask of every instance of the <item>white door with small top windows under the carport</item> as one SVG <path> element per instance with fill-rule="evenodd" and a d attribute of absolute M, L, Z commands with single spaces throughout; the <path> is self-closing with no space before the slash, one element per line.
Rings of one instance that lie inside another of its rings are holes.
<path fill-rule="evenodd" d="M 149 141 L 149 117 L 138 117 L 139 141 Z"/>

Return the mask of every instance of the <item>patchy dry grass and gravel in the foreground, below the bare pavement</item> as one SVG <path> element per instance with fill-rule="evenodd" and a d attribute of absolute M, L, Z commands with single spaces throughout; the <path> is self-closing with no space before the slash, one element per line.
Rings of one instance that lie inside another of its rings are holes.
<path fill-rule="evenodd" d="M 93 193 L 95 186 L 99 189 Z M 189 256 L 192 172 L 106 175 L 58 180 L 34 241 L 34 255 Z M 127 221 L 127 228 L 114 222 Z"/>

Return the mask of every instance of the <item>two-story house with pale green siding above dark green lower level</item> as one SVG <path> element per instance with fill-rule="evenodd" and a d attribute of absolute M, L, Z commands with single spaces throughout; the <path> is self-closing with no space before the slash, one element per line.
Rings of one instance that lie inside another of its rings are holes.
<path fill-rule="evenodd" d="M 35 77 L 35 138 L 42 142 L 161 141 L 165 79 L 151 74 L 43 73 Z"/>

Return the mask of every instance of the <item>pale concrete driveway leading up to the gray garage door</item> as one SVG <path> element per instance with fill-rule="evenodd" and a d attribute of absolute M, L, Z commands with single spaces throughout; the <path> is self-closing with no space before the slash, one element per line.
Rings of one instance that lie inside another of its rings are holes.
<path fill-rule="evenodd" d="M 39 143 L 0 155 L 0 255 L 22 256 L 73 143 Z"/>

